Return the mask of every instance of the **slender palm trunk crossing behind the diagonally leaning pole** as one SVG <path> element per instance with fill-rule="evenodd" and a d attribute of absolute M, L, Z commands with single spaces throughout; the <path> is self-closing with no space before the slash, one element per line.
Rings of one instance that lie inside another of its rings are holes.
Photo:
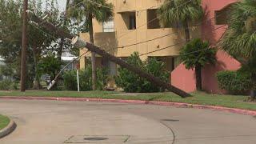
<path fill-rule="evenodd" d="M 89 14 L 88 16 L 88 22 L 89 22 L 89 34 L 90 34 L 90 43 L 94 44 L 94 28 L 93 28 L 93 17 L 92 14 Z M 94 52 L 91 52 L 91 67 L 92 67 L 92 88 L 93 90 L 96 90 L 96 54 Z"/>

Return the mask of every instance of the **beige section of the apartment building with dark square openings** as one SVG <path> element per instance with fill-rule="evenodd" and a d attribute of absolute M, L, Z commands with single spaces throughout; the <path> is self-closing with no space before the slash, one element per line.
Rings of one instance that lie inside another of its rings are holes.
<path fill-rule="evenodd" d="M 104 23 L 94 21 L 96 46 L 120 58 L 129 57 L 134 51 L 138 51 L 139 54 L 144 54 L 141 57 L 143 60 L 155 57 L 166 62 L 166 69 L 170 71 L 178 66 L 178 53 L 185 36 L 183 29 L 161 26 L 157 9 L 164 0 L 109 0 L 108 2 L 114 5 L 114 18 Z M 200 34 L 195 29 L 191 29 L 195 32 L 190 30 L 192 37 Z M 81 34 L 81 37 L 89 41 L 89 34 Z M 172 46 L 177 43 L 180 45 Z M 163 48 L 166 49 L 161 50 Z M 85 51 L 86 49 L 83 49 L 80 53 L 83 54 Z M 82 68 L 85 66 L 85 58 L 81 59 L 80 65 Z M 100 56 L 97 57 L 97 65 L 108 66 L 110 73 L 116 74 L 117 66 Z"/>

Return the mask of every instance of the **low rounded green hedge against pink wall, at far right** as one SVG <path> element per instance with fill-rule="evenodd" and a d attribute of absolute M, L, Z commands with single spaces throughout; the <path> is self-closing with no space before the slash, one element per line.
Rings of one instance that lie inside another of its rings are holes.
<path fill-rule="evenodd" d="M 220 71 L 216 74 L 218 86 L 230 94 L 245 94 L 251 89 L 250 75 L 238 71 Z"/>

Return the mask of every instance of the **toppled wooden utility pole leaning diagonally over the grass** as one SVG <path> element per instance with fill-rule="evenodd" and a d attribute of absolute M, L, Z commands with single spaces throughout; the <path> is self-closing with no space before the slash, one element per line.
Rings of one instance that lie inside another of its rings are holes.
<path fill-rule="evenodd" d="M 93 44 L 86 42 L 81 38 L 78 38 L 78 36 L 74 34 L 70 34 L 64 30 L 61 30 L 49 22 L 43 22 L 41 18 L 34 16 L 32 20 L 38 23 L 38 25 L 45 27 L 47 30 L 52 31 L 54 34 L 58 35 L 60 38 L 72 39 L 72 44 L 74 46 L 77 46 L 78 48 L 86 47 L 86 49 L 90 50 L 91 52 L 101 55 L 102 58 L 107 58 L 111 62 L 114 62 L 119 66 L 122 66 L 127 70 L 130 70 L 131 72 L 134 72 L 134 74 L 138 74 L 138 76 L 142 78 L 146 78 L 148 81 L 154 83 L 155 86 L 160 86 L 166 90 L 170 90 L 171 92 L 173 92 L 174 94 L 178 94 L 182 98 L 191 96 L 191 94 L 186 93 L 184 90 L 180 90 L 175 86 L 171 86 L 170 83 L 163 82 L 160 78 L 154 77 L 153 74 L 149 74 L 136 66 L 132 66 L 128 64 L 127 62 L 123 61 L 121 58 L 117 58 L 114 55 L 107 53 L 105 50 L 100 49 L 98 46 L 94 46 Z"/>

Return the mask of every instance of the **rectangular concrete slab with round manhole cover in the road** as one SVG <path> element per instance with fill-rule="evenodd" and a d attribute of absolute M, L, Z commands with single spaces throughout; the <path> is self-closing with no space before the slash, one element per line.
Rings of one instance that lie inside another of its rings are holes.
<path fill-rule="evenodd" d="M 74 135 L 64 143 L 125 143 L 129 135 Z"/>

